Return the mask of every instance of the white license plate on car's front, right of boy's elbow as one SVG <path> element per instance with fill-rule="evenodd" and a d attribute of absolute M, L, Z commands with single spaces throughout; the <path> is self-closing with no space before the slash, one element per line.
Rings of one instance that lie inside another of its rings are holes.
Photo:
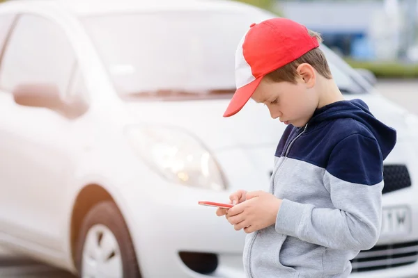
<path fill-rule="evenodd" d="M 403 236 L 411 231 L 411 213 L 408 206 L 382 208 L 381 237 Z"/>

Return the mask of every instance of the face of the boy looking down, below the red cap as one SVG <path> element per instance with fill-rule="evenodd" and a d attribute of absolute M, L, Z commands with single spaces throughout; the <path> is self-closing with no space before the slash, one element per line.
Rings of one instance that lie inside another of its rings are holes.
<path fill-rule="evenodd" d="M 318 107 L 316 93 L 301 77 L 296 84 L 264 78 L 251 98 L 265 104 L 273 119 L 297 127 L 307 124 Z"/>

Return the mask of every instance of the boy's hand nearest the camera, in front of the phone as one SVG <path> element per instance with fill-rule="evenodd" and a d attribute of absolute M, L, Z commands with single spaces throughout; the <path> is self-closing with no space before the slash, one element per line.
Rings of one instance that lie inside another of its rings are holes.
<path fill-rule="evenodd" d="M 276 223 L 281 199 L 264 191 L 247 193 L 247 199 L 226 212 L 226 219 L 235 230 L 249 234 Z"/>

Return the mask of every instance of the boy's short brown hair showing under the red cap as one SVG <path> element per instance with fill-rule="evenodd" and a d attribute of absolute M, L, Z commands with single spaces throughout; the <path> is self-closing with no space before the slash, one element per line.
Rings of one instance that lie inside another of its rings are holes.
<path fill-rule="evenodd" d="M 319 43 L 323 42 L 323 39 L 320 37 L 319 33 L 311 30 L 308 31 L 309 35 L 311 35 L 313 38 L 316 38 Z M 300 56 L 296 60 L 293 60 L 293 62 L 288 63 L 283 67 L 274 70 L 273 72 L 270 72 L 265 77 L 274 82 L 287 81 L 296 83 L 297 67 L 303 63 L 308 63 L 314 67 L 318 74 L 324 76 L 326 79 L 332 79 L 332 74 L 330 67 L 328 66 L 327 59 L 325 58 L 325 54 L 319 49 L 319 47 L 308 51 L 306 54 Z"/>

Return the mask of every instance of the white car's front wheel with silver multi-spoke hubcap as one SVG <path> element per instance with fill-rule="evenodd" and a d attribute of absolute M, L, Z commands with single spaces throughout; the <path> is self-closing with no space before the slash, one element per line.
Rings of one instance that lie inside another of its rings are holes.
<path fill-rule="evenodd" d="M 141 277 L 129 231 L 114 202 L 100 202 L 87 213 L 76 248 L 82 278 Z"/>

